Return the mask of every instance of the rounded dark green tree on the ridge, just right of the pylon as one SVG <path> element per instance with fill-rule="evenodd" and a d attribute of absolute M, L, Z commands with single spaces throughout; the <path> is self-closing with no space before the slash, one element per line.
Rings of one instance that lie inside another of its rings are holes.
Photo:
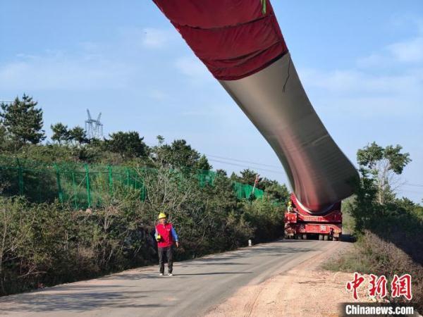
<path fill-rule="evenodd" d="M 121 154 L 122 159 L 142 157 L 147 154 L 147 145 L 143 142 L 144 137 L 140 137 L 138 132 L 115 132 L 106 140 L 110 151 Z"/>

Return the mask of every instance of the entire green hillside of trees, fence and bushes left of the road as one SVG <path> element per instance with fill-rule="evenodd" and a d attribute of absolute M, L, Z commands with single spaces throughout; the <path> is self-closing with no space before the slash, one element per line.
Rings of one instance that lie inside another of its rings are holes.
<path fill-rule="evenodd" d="M 264 178 L 250 194 L 257 173 L 212 171 L 183 139 L 148 147 L 138 132 L 88 139 L 57 123 L 47 140 L 25 95 L 0 118 L 1 295 L 155 263 L 161 211 L 178 230 L 177 259 L 283 235 L 285 185 Z"/>

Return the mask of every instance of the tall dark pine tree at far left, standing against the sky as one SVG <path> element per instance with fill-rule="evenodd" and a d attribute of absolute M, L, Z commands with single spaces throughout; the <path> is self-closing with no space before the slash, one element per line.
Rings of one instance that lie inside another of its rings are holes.
<path fill-rule="evenodd" d="M 11 104 L 0 104 L 0 118 L 8 137 L 18 148 L 28 142 L 38 144 L 45 139 L 42 130 L 42 109 L 37 108 L 37 101 L 23 94 L 22 100 L 16 97 Z"/>

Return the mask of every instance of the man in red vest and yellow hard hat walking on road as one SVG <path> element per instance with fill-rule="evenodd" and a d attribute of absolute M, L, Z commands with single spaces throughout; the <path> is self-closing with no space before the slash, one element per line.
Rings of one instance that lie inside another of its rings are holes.
<path fill-rule="evenodd" d="M 167 216 L 165 213 L 159 213 L 159 223 L 156 225 L 156 237 L 157 249 L 159 250 L 159 268 L 160 275 L 164 275 L 164 254 L 168 261 L 168 275 L 172 276 L 173 271 L 173 242 L 176 243 L 176 247 L 179 247 L 178 235 L 171 223 L 167 222 Z"/>

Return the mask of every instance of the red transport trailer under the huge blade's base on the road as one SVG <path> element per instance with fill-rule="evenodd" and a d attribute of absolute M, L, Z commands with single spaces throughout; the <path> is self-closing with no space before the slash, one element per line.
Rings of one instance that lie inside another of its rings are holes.
<path fill-rule="evenodd" d="M 342 234 L 341 201 L 321 211 L 310 213 L 295 194 L 285 211 L 286 239 L 318 239 L 338 241 Z"/>

